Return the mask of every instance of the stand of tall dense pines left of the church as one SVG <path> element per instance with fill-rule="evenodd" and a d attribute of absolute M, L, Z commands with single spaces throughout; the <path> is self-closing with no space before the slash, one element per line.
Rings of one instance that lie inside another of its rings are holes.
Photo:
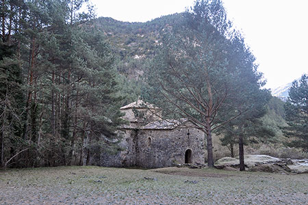
<path fill-rule="evenodd" d="M 2 165 L 82 165 L 85 155 L 87 161 L 99 155 L 94 147 L 103 150 L 108 140 L 118 138 L 123 98 L 114 57 L 90 21 L 92 8 L 79 12 L 87 2 L 1 2 L 1 38 L 6 41 L 1 56 L 9 54 L 0 61 L 0 87 L 1 96 L 10 97 L 1 98 Z"/>

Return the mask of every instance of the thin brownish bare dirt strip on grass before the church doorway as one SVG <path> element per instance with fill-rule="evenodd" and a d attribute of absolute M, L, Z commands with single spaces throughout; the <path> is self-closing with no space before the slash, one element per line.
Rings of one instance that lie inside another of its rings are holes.
<path fill-rule="evenodd" d="M 151 169 L 151 172 L 158 172 L 161 174 L 168 175 L 179 175 L 179 176 L 196 176 L 196 177 L 213 177 L 213 178 L 225 178 L 233 175 L 229 174 L 216 174 L 216 173 L 207 173 L 203 169 L 189 169 L 186 167 L 168 167 L 161 169 Z"/>

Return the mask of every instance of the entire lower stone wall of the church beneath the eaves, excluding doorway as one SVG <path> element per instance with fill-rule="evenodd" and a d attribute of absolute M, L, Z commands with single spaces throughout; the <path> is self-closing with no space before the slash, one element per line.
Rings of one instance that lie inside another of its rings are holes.
<path fill-rule="evenodd" d="M 188 135 L 189 133 L 189 135 Z M 204 163 L 204 134 L 195 128 L 124 131 L 117 154 L 103 153 L 101 165 L 107 167 L 170 167 L 185 163 L 186 150 L 192 150 L 192 163 Z"/>

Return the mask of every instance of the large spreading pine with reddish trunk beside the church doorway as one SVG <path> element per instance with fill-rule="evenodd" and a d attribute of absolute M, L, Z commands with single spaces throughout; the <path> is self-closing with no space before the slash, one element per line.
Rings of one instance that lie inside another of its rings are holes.
<path fill-rule="evenodd" d="M 169 108 L 173 117 L 188 118 L 205 133 L 210 167 L 214 166 L 211 132 L 228 121 L 216 117 L 230 94 L 230 28 L 221 1 L 196 1 L 183 22 L 164 29 L 159 55 L 147 77 L 150 101 L 167 103 L 162 107 Z"/>

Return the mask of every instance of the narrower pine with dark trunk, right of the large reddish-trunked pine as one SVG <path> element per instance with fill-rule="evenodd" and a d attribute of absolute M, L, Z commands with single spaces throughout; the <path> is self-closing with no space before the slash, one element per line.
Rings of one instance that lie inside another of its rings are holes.
<path fill-rule="evenodd" d="M 229 143 L 238 141 L 240 170 L 244 171 L 244 143 L 252 139 L 251 137 L 260 139 L 274 136 L 274 132 L 261 121 L 261 117 L 266 114 L 270 92 L 261 90 L 260 87 L 265 82 L 261 81 L 262 74 L 257 71 L 255 57 L 240 33 L 235 33 L 231 48 L 229 65 L 238 79 L 233 82 L 231 98 L 226 100 L 229 106 L 222 107 L 221 112 L 228 113 L 222 117 L 225 119 L 239 112 L 241 114 L 229 124 L 224 125 L 226 135 L 223 140 Z"/>

